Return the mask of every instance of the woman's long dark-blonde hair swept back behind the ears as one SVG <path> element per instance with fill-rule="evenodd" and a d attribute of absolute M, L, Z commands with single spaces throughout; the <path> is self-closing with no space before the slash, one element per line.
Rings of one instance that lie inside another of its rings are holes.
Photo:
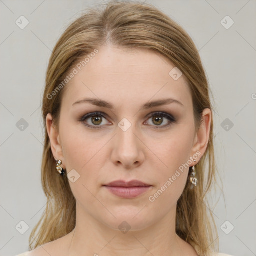
<path fill-rule="evenodd" d="M 58 39 L 46 71 L 42 99 L 45 137 L 41 182 L 47 204 L 30 234 L 30 249 L 68 234 L 74 229 L 76 220 L 76 200 L 66 175 L 61 176 L 56 171 L 56 160 L 46 129 L 48 113 L 51 113 L 53 123 L 59 129 L 61 98 L 65 86 L 53 97 L 48 95 L 53 95 L 52 92 L 56 91 L 82 57 L 106 45 L 129 50 L 150 49 L 167 57 L 178 67 L 187 80 L 192 95 L 196 131 L 200 127 L 203 110 L 209 108 L 212 112 L 210 88 L 199 52 L 190 36 L 169 16 L 151 4 L 139 2 L 115 1 L 106 3 L 103 9 L 88 9 Z M 206 151 L 196 164 L 199 185 L 190 189 L 190 182 L 187 180 L 177 201 L 176 233 L 191 244 L 198 255 L 210 255 L 219 248 L 216 225 L 211 210 L 207 209 L 209 206 L 206 197 L 216 183 L 213 138 L 212 118 Z"/>

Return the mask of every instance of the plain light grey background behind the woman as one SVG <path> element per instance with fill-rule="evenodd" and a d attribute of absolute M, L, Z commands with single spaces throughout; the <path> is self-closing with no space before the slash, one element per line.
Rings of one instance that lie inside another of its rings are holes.
<path fill-rule="evenodd" d="M 28 250 L 28 236 L 45 209 L 40 107 L 51 50 L 81 10 L 98 2 L 0 0 L 0 255 Z M 219 201 L 212 209 L 220 252 L 256 255 L 256 1 L 146 2 L 192 37 L 213 92 L 216 161 L 225 195 L 224 200 L 217 191 Z M 21 15 L 29 21 L 24 29 L 15 24 Z M 234 21 L 229 29 L 221 24 L 226 15 Z M 23 131 L 18 126 L 21 118 L 28 123 Z M 22 220 L 29 226 L 24 234 L 15 228 Z"/>

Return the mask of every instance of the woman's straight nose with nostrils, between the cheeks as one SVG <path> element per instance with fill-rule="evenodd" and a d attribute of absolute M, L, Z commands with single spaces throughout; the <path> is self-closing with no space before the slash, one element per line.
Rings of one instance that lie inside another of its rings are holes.
<path fill-rule="evenodd" d="M 138 167 L 144 161 L 143 148 L 145 145 L 139 138 L 139 132 L 135 125 L 131 125 L 126 131 L 117 127 L 117 134 L 114 136 L 114 149 L 111 160 L 115 165 L 123 165 L 125 168 Z"/>

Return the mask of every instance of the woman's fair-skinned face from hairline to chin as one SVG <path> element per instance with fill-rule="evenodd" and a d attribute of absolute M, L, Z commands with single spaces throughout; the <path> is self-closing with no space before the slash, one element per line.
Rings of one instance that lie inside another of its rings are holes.
<path fill-rule="evenodd" d="M 183 75 L 169 75 L 175 66 L 164 56 L 146 49 L 98 50 L 65 87 L 58 131 L 47 116 L 52 152 L 73 176 L 68 181 L 79 214 L 112 229 L 126 221 L 141 230 L 174 218 L 188 167 L 206 149 L 209 123 L 195 133 L 188 85 Z M 172 100 L 149 104 L 164 99 Z M 99 100 L 107 103 L 96 105 Z M 104 186 L 134 179 L 150 186 Z"/>

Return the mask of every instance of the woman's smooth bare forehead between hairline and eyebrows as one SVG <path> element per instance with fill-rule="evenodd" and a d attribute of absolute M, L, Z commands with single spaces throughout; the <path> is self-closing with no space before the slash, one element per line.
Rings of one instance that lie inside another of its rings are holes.
<path fill-rule="evenodd" d="M 175 66 L 152 50 L 104 46 L 87 58 L 88 62 L 85 58 L 78 61 L 81 70 L 75 66 L 77 73 L 65 87 L 63 99 L 70 106 L 83 97 L 126 106 L 166 97 L 175 98 L 187 107 L 192 103 L 185 77 L 181 75 L 174 80 L 169 73 Z"/>

